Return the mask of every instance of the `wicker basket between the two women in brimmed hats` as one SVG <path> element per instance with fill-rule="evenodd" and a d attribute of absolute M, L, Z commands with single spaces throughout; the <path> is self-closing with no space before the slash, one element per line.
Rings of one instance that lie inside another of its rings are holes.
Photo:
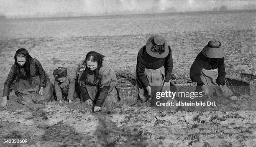
<path fill-rule="evenodd" d="M 178 92 L 195 92 L 197 83 L 178 79 L 178 80 L 171 80 L 171 90 L 172 91 L 178 91 Z"/>

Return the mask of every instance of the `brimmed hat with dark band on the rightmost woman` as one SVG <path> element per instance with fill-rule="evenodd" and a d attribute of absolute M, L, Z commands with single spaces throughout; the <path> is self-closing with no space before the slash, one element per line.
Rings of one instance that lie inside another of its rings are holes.
<path fill-rule="evenodd" d="M 202 49 L 202 54 L 208 58 L 223 58 L 225 51 L 221 43 L 217 40 L 209 41 L 208 44 Z"/>

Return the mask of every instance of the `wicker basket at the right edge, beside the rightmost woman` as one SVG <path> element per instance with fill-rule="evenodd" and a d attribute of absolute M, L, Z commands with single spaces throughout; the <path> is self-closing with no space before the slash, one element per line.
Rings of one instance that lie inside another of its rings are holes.
<path fill-rule="evenodd" d="M 229 89 L 238 94 L 256 94 L 256 75 L 255 74 L 231 74 L 226 79 Z"/>

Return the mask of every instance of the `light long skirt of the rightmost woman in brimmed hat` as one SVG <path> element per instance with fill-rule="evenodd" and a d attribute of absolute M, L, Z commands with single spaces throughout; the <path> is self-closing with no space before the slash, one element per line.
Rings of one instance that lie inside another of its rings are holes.
<path fill-rule="evenodd" d="M 233 92 L 228 89 L 226 84 L 223 86 L 225 93 L 222 93 L 222 91 L 219 89 L 219 85 L 216 83 L 218 75 L 218 69 L 207 70 L 202 68 L 200 79 L 209 89 L 210 96 L 231 96 Z M 202 86 L 197 86 L 197 91 L 200 90 L 202 91 Z"/>

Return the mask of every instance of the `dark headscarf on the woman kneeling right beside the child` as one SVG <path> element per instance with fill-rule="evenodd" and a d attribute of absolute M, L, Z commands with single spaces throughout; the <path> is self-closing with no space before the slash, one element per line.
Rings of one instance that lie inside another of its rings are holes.
<path fill-rule="evenodd" d="M 85 64 L 86 64 L 87 59 L 90 56 L 94 56 L 95 57 L 95 59 L 97 60 L 97 63 L 98 63 L 98 67 L 94 71 L 91 71 L 90 68 L 88 68 L 86 66 L 85 70 L 83 71 L 83 73 L 81 75 L 81 78 L 80 78 L 81 81 L 85 81 L 87 79 L 87 75 L 88 74 L 94 74 L 94 80 L 95 81 L 99 78 L 99 70 L 102 67 L 102 62 L 104 60 L 103 59 L 104 56 L 102 54 L 100 54 L 100 53 L 95 52 L 95 51 L 90 51 L 89 53 L 87 53 L 87 55 L 85 57 L 85 60 L 84 60 Z"/>

